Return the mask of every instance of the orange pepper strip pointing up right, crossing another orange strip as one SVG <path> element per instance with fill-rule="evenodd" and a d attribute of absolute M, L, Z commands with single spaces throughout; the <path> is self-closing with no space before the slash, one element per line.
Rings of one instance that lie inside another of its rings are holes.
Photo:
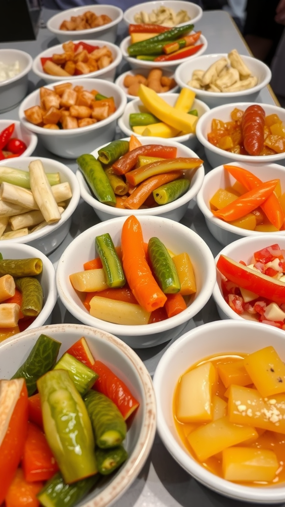
<path fill-rule="evenodd" d="M 278 179 L 272 179 L 269 182 L 262 183 L 255 189 L 242 194 L 235 201 L 231 202 L 224 208 L 218 209 L 217 211 L 213 210 L 212 213 L 225 222 L 238 220 L 241 218 L 241 216 L 250 213 L 258 206 L 260 206 L 265 201 L 265 199 L 267 199 L 270 194 L 272 194 L 277 184 Z"/>

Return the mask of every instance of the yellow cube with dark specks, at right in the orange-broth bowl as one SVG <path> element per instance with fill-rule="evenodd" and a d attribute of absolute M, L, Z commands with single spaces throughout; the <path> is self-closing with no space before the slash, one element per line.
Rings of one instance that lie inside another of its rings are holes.
<path fill-rule="evenodd" d="M 247 355 L 244 368 L 263 397 L 285 392 L 285 364 L 274 347 Z"/>

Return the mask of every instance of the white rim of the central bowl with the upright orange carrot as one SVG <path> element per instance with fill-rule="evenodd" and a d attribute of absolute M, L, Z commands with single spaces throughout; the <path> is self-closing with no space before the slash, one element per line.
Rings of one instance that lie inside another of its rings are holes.
<path fill-rule="evenodd" d="M 96 234 L 96 231 L 99 227 L 103 229 L 108 228 L 108 224 L 111 223 L 112 225 L 117 225 L 118 227 L 121 227 L 122 224 L 125 222 L 126 217 L 125 216 L 118 216 L 115 218 L 112 218 L 110 220 L 106 220 L 103 222 L 100 222 L 88 230 L 82 232 L 79 236 L 74 238 L 72 242 L 69 243 L 69 245 L 66 247 L 64 252 L 62 253 L 56 269 L 56 284 L 57 284 L 57 292 L 59 295 L 60 300 L 62 301 L 63 305 L 67 308 L 67 310 L 74 315 L 78 320 L 83 321 L 82 318 L 84 318 L 84 322 L 87 325 L 93 325 L 94 327 L 98 327 L 102 330 L 109 330 L 111 333 L 114 333 L 115 335 L 124 335 L 124 336 L 141 336 L 141 335 L 148 335 L 148 334 L 156 334 L 163 331 L 167 331 L 169 329 L 175 328 L 181 323 L 187 322 L 190 320 L 198 311 L 200 311 L 206 302 L 209 300 L 212 291 L 213 286 L 215 285 L 216 281 L 216 266 L 215 261 L 213 260 L 213 255 L 206 244 L 206 242 L 192 229 L 189 229 L 185 225 L 181 224 L 180 222 L 174 222 L 173 220 L 156 216 L 156 215 L 140 215 L 139 220 L 146 220 L 146 221 L 160 221 L 161 224 L 166 223 L 167 226 L 172 227 L 173 224 L 175 224 L 175 228 L 180 229 L 182 234 L 187 234 L 189 239 L 192 241 L 195 240 L 195 245 L 199 245 L 200 249 L 203 250 L 203 256 L 206 258 L 207 263 L 207 275 L 206 280 L 203 284 L 203 287 L 200 291 L 200 293 L 197 295 L 197 298 L 194 299 L 191 304 L 181 313 L 178 315 L 175 315 L 173 317 L 170 317 L 170 319 L 165 319 L 160 322 L 154 322 L 151 324 L 143 324 L 143 325 L 123 325 L 123 324 L 114 324 L 112 322 L 106 322 L 101 319 L 98 319 L 96 317 L 93 317 L 90 315 L 87 310 L 85 311 L 83 308 L 80 308 L 80 306 L 74 302 L 73 298 L 69 298 L 69 296 L 64 291 L 64 286 L 66 283 L 65 278 L 62 275 L 62 269 L 61 265 L 65 262 L 66 259 L 68 259 L 69 252 L 72 251 L 77 245 L 81 244 L 82 241 L 84 241 L 85 237 L 94 237 Z M 194 241 L 193 241 L 194 243 Z M 215 275 L 215 276 L 214 276 Z M 202 301 L 201 301 L 202 300 Z M 202 305 L 201 305 L 202 303 Z M 169 321 L 171 320 L 171 325 L 169 325 Z"/>

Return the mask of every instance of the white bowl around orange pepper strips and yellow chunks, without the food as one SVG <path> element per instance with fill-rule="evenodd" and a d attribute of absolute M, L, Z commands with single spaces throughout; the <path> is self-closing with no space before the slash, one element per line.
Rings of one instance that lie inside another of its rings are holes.
<path fill-rule="evenodd" d="M 248 171 L 251 171 L 253 174 L 258 176 L 263 182 L 267 182 L 269 179 L 279 178 L 281 183 L 282 192 L 285 191 L 285 173 L 284 167 L 278 164 L 263 164 L 263 165 L 250 165 L 250 164 L 240 164 L 238 162 L 231 163 L 231 165 L 235 165 L 238 167 L 243 167 Z M 208 172 L 203 180 L 201 189 L 197 194 L 197 204 L 202 211 L 206 225 L 210 231 L 210 233 L 220 242 L 222 245 L 228 245 L 232 241 L 239 239 L 243 236 L 253 236 L 258 238 L 261 233 L 259 231 L 250 231 L 248 229 L 241 229 L 240 227 L 235 227 L 231 224 L 228 224 L 224 220 L 219 219 L 217 216 L 214 216 L 211 212 L 209 200 L 210 198 L 219 190 L 220 188 L 227 188 L 231 186 L 235 182 L 235 178 L 233 178 L 228 171 L 224 169 L 222 165 L 219 167 L 215 167 L 210 172 Z M 274 233 L 267 233 L 270 238 Z M 279 236 L 284 236 L 285 231 L 279 231 Z"/>

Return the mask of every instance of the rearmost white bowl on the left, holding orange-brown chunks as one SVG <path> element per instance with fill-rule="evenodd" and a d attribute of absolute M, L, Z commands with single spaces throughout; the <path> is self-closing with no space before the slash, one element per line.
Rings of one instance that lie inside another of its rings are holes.
<path fill-rule="evenodd" d="M 61 23 L 69 21 L 72 16 L 81 16 L 87 11 L 94 12 L 97 16 L 105 14 L 112 19 L 111 23 L 99 26 L 97 28 L 88 28 L 87 30 L 60 30 Z M 123 19 L 123 11 L 114 5 L 85 5 L 83 7 L 74 7 L 66 9 L 52 16 L 47 22 L 47 28 L 55 35 L 59 42 L 80 41 L 84 39 L 99 39 L 100 41 L 114 43 L 117 38 L 118 25 Z"/>

